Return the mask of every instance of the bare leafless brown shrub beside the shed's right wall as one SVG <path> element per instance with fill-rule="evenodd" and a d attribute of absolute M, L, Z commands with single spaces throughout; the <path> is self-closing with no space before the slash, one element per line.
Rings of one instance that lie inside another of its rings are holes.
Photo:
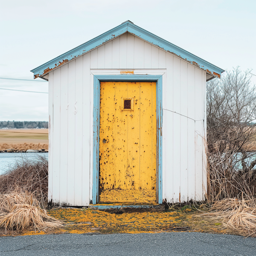
<path fill-rule="evenodd" d="M 208 199 L 247 195 L 256 187 L 256 86 L 239 67 L 207 82 Z"/>

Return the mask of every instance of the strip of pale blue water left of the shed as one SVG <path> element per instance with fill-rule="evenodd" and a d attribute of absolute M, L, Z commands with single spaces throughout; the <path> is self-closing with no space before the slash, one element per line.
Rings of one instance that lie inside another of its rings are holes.
<path fill-rule="evenodd" d="M 12 169 L 17 161 L 22 161 L 23 158 L 37 160 L 38 156 L 48 159 L 48 153 L 0 153 L 0 175 Z"/>

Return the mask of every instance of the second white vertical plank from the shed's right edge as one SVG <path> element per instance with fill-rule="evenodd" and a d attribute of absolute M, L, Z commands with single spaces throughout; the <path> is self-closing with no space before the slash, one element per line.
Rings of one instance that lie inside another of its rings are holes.
<path fill-rule="evenodd" d="M 203 106 L 202 70 L 195 68 L 195 200 L 203 199 Z"/>

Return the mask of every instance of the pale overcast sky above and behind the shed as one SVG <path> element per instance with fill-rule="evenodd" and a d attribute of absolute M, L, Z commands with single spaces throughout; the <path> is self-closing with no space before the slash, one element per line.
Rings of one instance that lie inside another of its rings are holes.
<path fill-rule="evenodd" d="M 255 0 L 0 0 L 0 10 L 0 77 L 33 79 L 29 70 L 126 20 L 225 70 L 256 74 Z M 48 82 L 0 79 L 0 88 L 47 92 Z M 4 120 L 47 121 L 48 94 L 0 90 Z"/>

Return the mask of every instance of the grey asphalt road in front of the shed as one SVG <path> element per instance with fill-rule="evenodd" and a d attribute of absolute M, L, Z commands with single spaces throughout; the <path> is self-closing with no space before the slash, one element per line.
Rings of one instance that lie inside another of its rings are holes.
<path fill-rule="evenodd" d="M 0 256 L 256 256 L 256 238 L 207 233 L 0 237 Z"/>

